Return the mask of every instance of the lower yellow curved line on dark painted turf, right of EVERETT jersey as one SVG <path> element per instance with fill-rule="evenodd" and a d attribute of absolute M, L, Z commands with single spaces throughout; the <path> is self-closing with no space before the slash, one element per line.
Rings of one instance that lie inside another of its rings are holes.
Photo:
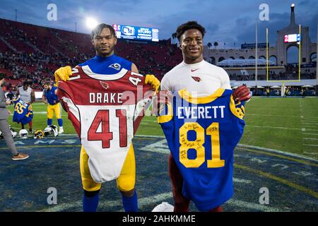
<path fill-rule="evenodd" d="M 301 186 L 299 184 L 295 184 L 293 182 L 290 182 L 287 179 L 283 179 L 281 177 L 276 177 L 275 175 L 270 174 L 269 172 L 263 172 L 263 171 L 261 171 L 259 169 L 252 169 L 252 168 L 249 168 L 249 167 L 247 167 L 245 165 L 240 165 L 240 164 L 237 164 L 237 163 L 234 163 L 233 166 L 237 167 L 239 169 L 245 169 L 245 170 L 247 170 L 249 172 L 252 172 L 254 174 L 259 174 L 262 177 L 273 179 L 276 182 L 281 182 L 282 184 L 290 186 L 293 189 L 305 192 L 306 194 L 309 194 L 310 196 L 313 196 L 314 198 L 318 198 L 318 193 L 316 191 L 312 191 L 311 189 L 307 189 L 305 186 Z"/>

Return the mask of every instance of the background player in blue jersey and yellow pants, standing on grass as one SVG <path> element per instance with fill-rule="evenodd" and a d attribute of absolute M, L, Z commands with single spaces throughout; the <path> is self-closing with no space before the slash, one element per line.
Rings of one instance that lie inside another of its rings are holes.
<path fill-rule="evenodd" d="M 42 102 L 45 102 L 47 105 L 47 126 L 52 126 L 53 114 L 55 114 L 59 124 L 59 134 L 64 133 L 63 119 L 61 119 L 61 105 L 59 97 L 57 97 L 57 87 L 50 82 L 45 83 Z"/>

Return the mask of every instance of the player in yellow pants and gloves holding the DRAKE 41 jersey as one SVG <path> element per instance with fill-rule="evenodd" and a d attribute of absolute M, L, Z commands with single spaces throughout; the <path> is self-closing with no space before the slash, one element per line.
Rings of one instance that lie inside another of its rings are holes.
<path fill-rule="evenodd" d="M 101 23 L 91 32 L 91 40 L 95 48 L 96 56 L 88 61 L 79 64 L 79 66 L 89 66 L 89 68 L 98 74 L 117 74 L 121 69 L 126 69 L 139 73 L 135 64 L 114 54 L 114 47 L 117 44 L 117 37 L 114 28 L 111 25 Z M 71 76 L 71 67 L 65 66 L 55 71 L 56 81 L 69 80 Z M 154 90 L 158 90 L 160 82 L 153 75 L 147 75 L 146 84 L 150 84 Z M 81 90 L 79 90 L 81 91 Z M 88 167 L 89 156 L 81 148 L 81 179 L 83 184 L 83 211 L 96 211 L 99 201 L 99 192 L 101 184 L 93 180 Z M 136 182 L 136 164 L 133 145 L 129 148 L 126 155 L 121 174 L 117 177 L 117 187 L 122 194 L 122 203 L 126 212 L 138 211 L 137 194 L 135 189 Z"/>

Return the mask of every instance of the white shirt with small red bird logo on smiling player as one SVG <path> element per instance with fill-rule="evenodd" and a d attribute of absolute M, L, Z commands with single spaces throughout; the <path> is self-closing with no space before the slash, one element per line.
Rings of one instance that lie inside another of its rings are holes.
<path fill-rule="evenodd" d="M 175 92 L 186 89 L 194 97 L 211 95 L 218 88 L 231 89 L 228 73 L 206 61 L 196 64 L 182 61 L 168 71 L 161 81 L 161 90 Z"/>

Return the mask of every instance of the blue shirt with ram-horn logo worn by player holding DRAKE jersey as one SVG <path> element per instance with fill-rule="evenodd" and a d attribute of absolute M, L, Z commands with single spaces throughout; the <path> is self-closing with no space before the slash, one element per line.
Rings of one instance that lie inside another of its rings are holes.
<path fill-rule="evenodd" d="M 88 65 L 94 73 L 110 75 L 116 74 L 122 69 L 130 71 L 132 63 L 131 61 L 127 61 L 126 59 L 113 54 L 110 57 L 95 56 L 82 64 L 78 64 L 78 66 L 86 65 Z"/>

